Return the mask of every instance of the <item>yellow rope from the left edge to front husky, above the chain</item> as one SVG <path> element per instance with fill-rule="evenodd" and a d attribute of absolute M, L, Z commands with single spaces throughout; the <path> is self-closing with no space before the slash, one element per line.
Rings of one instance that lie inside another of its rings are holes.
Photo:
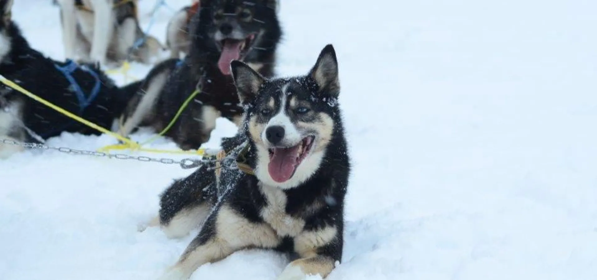
<path fill-rule="evenodd" d="M 115 145 L 110 145 L 110 146 L 104 147 L 104 148 L 100 149 L 100 151 L 110 150 L 110 149 L 115 149 L 115 150 L 131 149 L 131 150 L 138 150 L 140 152 L 152 152 L 152 153 L 195 154 L 195 155 L 203 155 L 205 153 L 205 149 L 198 149 L 195 152 L 193 152 L 193 151 L 185 151 L 185 150 L 161 150 L 161 149 L 142 148 L 139 143 L 137 143 L 133 140 L 130 140 L 128 138 L 122 137 L 118 133 L 113 133 L 112 131 L 107 130 L 106 128 L 100 127 L 99 125 L 94 124 L 93 122 L 87 121 L 87 119 L 81 118 L 67 110 L 64 110 L 61 107 L 56 106 L 55 104 L 51 103 L 50 101 L 42 99 L 41 97 L 36 96 L 33 93 L 30 93 L 30 91 L 25 90 L 24 88 L 20 87 L 20 85 L 17 85 L 13 81 L 10 81 L 9 79 L 4 78 L 4 76 L 2 76 L 2 75 L 0 75 L 0 82 L 2 82 L 2 84 L 7 85 L 8 87 L 13 88 L 14 90 L 19 91 L 20 93 L 26 95 L 27 97 L 30 97 L 31 99 L 38 101 L 39 103 L 42 103 L 45 106 L 48 106 L 71 119 L 74 119 L 75 121 L 81 122 L 81 124 L 87 125 L 88 127 L 94 128 L 95 130 L 100 131 L 101 133 L 108 134 L 109 136 L 112 136 L 112 137 L 124 142 L 124 144 L 115 144 Z M 187 100 L 190 100 L 190 99 L 187 99 Z M 188 102 L 185 102 L 183 105 L 186 106 L 187 103 Z M 179 112 L 181 112 L 182 109 L 184 109 L 184 108 L 181 108 L 179 110 Z M 178 115 L 180 115 L 180 113 L 177 113 L 177 116 Z M 173 119 L 173 121 L 171 123 L 173 123 L 174 121 L 176 121 L 176 119 Z M 165 133 L 165 131 L 162 131 L 162 133 Z"/>

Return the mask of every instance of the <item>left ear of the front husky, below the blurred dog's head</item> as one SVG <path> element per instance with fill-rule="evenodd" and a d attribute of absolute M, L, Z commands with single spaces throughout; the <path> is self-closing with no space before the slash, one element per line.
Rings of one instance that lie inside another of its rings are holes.
<path fill-rule="evenodd" d="M 259 88 L 265 80 L 247 64 L 238 60 L 230 62 L 230 69 L 241 103 L 251 102 L 257 97 Z"/>

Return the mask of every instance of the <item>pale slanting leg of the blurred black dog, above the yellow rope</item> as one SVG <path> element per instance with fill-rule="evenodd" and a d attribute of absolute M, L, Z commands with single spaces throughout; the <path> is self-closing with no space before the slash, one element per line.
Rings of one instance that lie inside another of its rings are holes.
<path fill-rule="evenodd" d="M 170 71 L 164 71 L 149 80 L 149 85 L 147 86 L 145 94 L 141 97 L 141 101 L 139 101 L 139 104 L 135 107 L 133 114 L 127 116 L 124 125 L 122 125 L 122 128 L 119 131 L 121 136 L 128 137 L 128 134 L 139 126 L 147 115 L 152 112 L 155 101 L 158 99 L 162 88 L 164 88 L 169 74 Z"/>

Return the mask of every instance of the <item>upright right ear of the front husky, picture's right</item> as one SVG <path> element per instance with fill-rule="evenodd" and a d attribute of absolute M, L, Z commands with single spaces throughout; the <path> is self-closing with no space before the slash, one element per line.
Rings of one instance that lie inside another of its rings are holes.
<path fill-rule="evenodd" d="M 319 54 L 317 62 L 309 72 L 319 87 L 319 92 L 326 91 L 333 96 L 340 94 L 338 81 L 338 60 L 332 45 L 327 45 Z"/>

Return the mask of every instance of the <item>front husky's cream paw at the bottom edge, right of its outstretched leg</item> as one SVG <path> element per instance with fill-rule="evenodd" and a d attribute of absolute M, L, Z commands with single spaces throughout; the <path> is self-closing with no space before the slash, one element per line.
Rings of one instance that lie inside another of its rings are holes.
<path fill-rule="evenodd" d="M 334 269 L 334 263 L 334 259 L 327 256 L 298 259 L 288 264 L 278 276 L 278 280 L 303 280 L 309 275 L 325 278 Z"/>

